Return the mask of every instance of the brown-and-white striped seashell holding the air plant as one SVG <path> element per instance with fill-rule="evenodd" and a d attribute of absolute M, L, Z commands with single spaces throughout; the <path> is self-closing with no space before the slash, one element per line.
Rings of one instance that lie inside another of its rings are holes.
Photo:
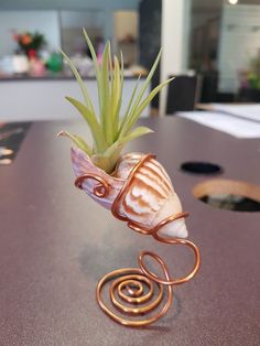
<path fill-rule="evenodd" d="M 149 234 L 164 219 L 180 215 L 182 205 L 163 166 L 153 155 L 145 160 L 147 156 L 143 153 L 124 154 L 109 175 L 80 149 L 72 148 L 77 185 L 116 217 L 129 221 L 130 227 L 134 225 Z M 184 217 L 163 225 L 160 234 L 186 238 Z"/>

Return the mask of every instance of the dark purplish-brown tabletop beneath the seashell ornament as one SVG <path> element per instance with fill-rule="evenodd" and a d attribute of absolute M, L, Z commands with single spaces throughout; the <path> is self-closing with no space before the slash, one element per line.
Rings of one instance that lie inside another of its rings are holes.
<path fill-rule="evenodd" d="M 69 142 L 55 133 L 84 133 L 82 122 L 34 123 L 14 162 L 0 166 L 0 345 L 260 345 L 260 214 L 196 201 L 192 188 L 208 177 L 178 169 L 210 161 L 220 177 L 260 184 L 260 140 L 173 117 L 147 122 L 155 133 L 128 151 L 154 152 L 167 170 L 202 252 L 198 274 L 174 288 L 154 325 L 126 328 L 105 315 L 95 300 L 105 273 L 137 267 L 147 249 L 181 275 L 192 253 L 133 233 L 74 187 Z"/>

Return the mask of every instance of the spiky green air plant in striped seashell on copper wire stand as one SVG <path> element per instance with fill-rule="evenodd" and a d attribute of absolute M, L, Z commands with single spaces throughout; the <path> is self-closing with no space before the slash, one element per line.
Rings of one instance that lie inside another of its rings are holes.
<path fill-rule="evenodd" d="M 105 208 L 111 210 L 112 215 L 128 226 L 142 235 L 150 235 L 154 239 L 166 244 L 182 244 L 193 249 L 195 253 L 195 266 L 191 273 L 182 279 L 171 279 L 166 264 L 155 253 L 150 251 L 141 252 L 139 264 L 141 269 L 119 269 L 105 275 L 97 285 L 97 300 L 100 307 L 116 322 L 128 326 L 141 326 L 155 322 L 166 313 L 172 302 L 172 285 L 183 283 L 192 279 L 199 267 L 199 251 L 197 247 L 187 237 L 185 226 L 186 213 L 182 210 L 182 205 L 171 180 L 163 166 L 150 153 L 127 153 L 121 154 L 124 145 L 147 133 L 152 132 L 147 127 L 136 127 L 142 111 L 152 100 L 152 98 L 171 79 L 167 79 L 156 86 L 144 97 L 145 90 L 150 86 L 150 80 L 158 67 L 161 52 L 159 53 L 145 82 L 141 88 L 137 85 L 130 96 L 128 107 L 121 117 L 121 100 L 123 88 L 123 58 L 111 57 L 110 43 L 107 42 L 101 63 L 98 60 L 90 42 L 89 36 L 84 30 L 88 47 L 91 52 L 95 65 L 98 96 L 99 96 L 99 117 L 94 109 L 89 98 L 88 90 L 82 80 L 76 67 L 71 60 L 63 53 L 68 62 L 84 97 L 84 102 L 72 97 L 67 100 L 76 107 L 86 120 L 91 134 L 93 145 L 87 143 L 82 137 L 61 131 L 59 136 L 68 137 L 74 147 L 72 147 L 72 165 L 76 175 L 75 184 L 84 190 L 94 201 Z M 164 278 L 160 278 L 147 269 L 143 258 L 153 258 L 162 267 Z M 126 277 L 124 277 L 126 274 Z M 106 283 L 115 277 L 120 275 L 112 283 L 110 298 L 123 314 L 143 316 L 138 321 L 118 316 L 112 312 L 102 296 L 102 289 Z M 151 291 L 144 293 L 141 284 L 148 286 Z M 152 285 L 159 288 L 159 296 L 150 305 L 143 306 L 152 298 Z M 163 286 L 165 286 L 167 299 L 163 301 Z M 134 307 L 122 306 L 117 302 L 113 290 L 118 290 L 118 295 L 129 303 L 136 304 Z M 141 296 L 144 295 L 144 296 Z M 147 313 L 153 312 L 162 303 L 162 309 L 153 316 L 145 317 Z"/>

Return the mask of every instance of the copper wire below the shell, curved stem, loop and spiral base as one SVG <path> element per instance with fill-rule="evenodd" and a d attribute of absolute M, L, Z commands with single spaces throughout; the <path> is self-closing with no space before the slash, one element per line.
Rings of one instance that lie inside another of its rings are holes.
<path fill-rule="evenodd" d="M 195 255 L 195 264 L 191 273 L 186 277 L 172 279 L 167 266 L 156 253 L 151 251 L 141 251 L 138 258 L 140 269 L 123 268 L 107 273 L 97 285 L 96 298 L 98 304 L 108 316 L 126 326 L 141 327 L 152 324 L 161 318 L 172 304 L 173 285 L 189 281 L 196 274 L 201 264 L 199 250 L 192 241 L 176 238 L 162 238 L 159 237 L 156 233 L 152 234 L 152 236 L 162 242 L 186 245 L 191 247 Z M 144 257 L 154 259 L 161 266 L 163 278 L 159 278 L 145 267 L 143 262 Z M 102 289 L 105 284 L 111 280 L 113 281 L 111 282 L 109 289 L 110 305 L 108 305 L 102 299 Z M 148 292 L 144 292 L 145 285 Z M 158 295 L 155 298 L 154 285 L 158 286 Z M 164 299 L 163 302 L 164 286 L 166 288 L 166 300 Z M 133 307 L 129 304 L 132 304 Z M 143 317 L 145 314 L 150 313 L 154 313 L 153 316 L 148 318 Z M 122 317 L 121 315 L 134 315 L 136 317 L 139 316 L 139 318 L 132 320 Z"/>

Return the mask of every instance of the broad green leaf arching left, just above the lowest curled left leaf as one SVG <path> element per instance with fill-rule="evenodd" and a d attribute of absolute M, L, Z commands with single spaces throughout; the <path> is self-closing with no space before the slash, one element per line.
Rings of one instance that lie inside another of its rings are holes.
<path fill-rule="evenodd" d="M 80 101 L 76 100 L 73 97 L 66 97 L 66 99 L 74 106 L 77 108 L 77 110 L 82 113 L 82 116 L 84 117 L 84 119 L 87 121 L 90 131 L 93 133 L 93 138 L 95 141 L 95 147 L 97 149 L 98 152 L 102 152 L 106 150 L 107 145 L 107 141 L 102 134 L 100 125 L 98 123 L 95 115 Z"/>

